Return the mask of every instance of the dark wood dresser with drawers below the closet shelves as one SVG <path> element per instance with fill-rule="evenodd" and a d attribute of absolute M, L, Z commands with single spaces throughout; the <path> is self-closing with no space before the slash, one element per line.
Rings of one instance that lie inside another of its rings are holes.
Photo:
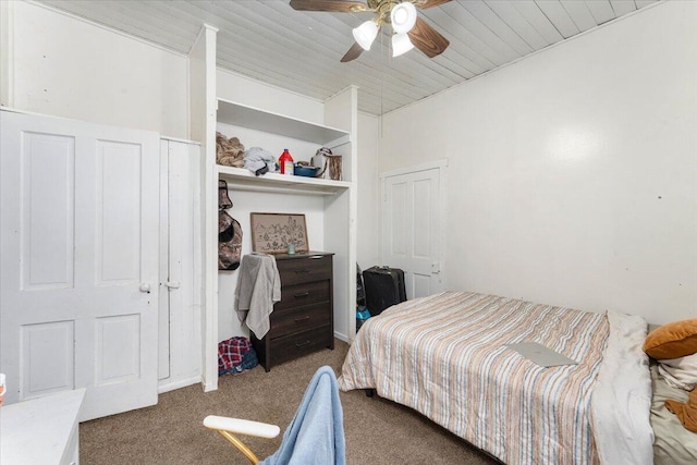
<path fill-rule="evenodd" d="M 281 302 L 273 305 L 269 332 L 261 339 L 250 333 L 252 345 L 267 371 L 310 352 L 334 348 L 332 255 L 310 252 L 276 256 Z"/>

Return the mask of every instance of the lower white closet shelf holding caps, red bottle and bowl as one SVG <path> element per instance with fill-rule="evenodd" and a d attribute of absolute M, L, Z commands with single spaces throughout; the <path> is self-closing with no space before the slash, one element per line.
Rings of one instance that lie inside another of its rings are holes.
<path fill-rule="evenodd" d="M 333 194 L 347 189 L 351 186 L 348 181 L 332 181 L 321 180 L 318 178 L 305 178 L 305 176 L 289 176 L 286 174 L 279 173 L 266 173 L 260 176 L 255 176 L 249 170 L 245 168 L 232 168 L 216 166 L 218 176 L 223 179 L 231 185 L 239 185 L 242 187 L 254 188 L 255 191 L 297 191 L 298 194 L 318 193 L 318 194 Z"/>

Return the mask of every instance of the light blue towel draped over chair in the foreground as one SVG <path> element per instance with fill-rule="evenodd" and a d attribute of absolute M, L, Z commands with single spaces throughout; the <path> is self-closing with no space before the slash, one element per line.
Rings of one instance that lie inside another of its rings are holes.
<path fill-rule="evenodd" d="M 320 367 L 307 387 L 281 446 L 260 465 L 345 465 L 344 414 L 334 371 Z"/>

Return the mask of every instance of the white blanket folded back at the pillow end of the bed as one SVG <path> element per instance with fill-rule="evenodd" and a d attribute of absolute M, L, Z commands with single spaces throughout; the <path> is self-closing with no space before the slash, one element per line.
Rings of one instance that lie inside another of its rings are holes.
<path fill-rule="evenodd" d="M 610 335 L 591 401 L 598 455 L 607 465 L 651 465 L 651 378 L 641 348 L 647 323 L 638 316 L 607 315 Z"/>

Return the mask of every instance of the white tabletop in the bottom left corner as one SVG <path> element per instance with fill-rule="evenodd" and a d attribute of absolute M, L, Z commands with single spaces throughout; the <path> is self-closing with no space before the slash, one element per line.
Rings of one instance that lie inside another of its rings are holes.
<path fill-rule="evenodd" d="M 0 463 L 77 464 L 77 418 L 85 389 L 0 407 Z"/>

